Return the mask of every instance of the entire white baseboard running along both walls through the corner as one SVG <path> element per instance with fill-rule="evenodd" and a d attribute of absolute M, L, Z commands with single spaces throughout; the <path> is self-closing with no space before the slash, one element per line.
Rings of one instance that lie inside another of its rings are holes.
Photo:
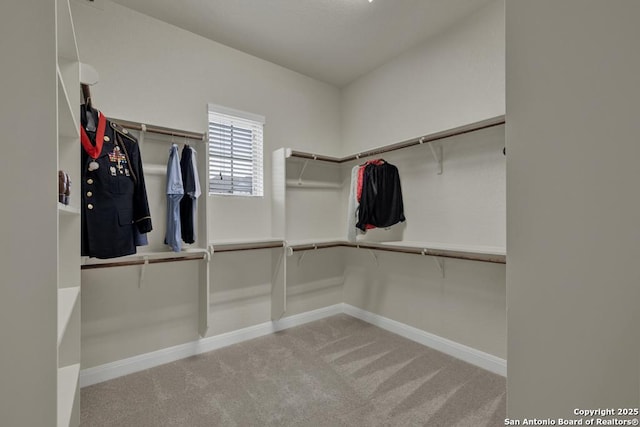
<path fill-rule="evenodd" d="M 306 313 L 285 317 L 280 320 L 264 322 L 237 331 L 227 332 L 174 347 L 163 348 L 151 353 L 129 357 L 112 363 L 87 368 L 80 371 L 80 387 L 86 387 L 103 381 L 143 371 L 165 363 L 174 362 L 200 353 L 227 347 L 253 338 L 324 319 L 336 314 L 348 314 L 372 325 L 386 329 L 407 339 L 431 347 L 465 362 L 496 374 L 507 375 L 507 362 L 504 359 L 476 350 L 463 344 L 439 337 L 413 326 L 382 317 L 349 304 L 335 304 Z"/>

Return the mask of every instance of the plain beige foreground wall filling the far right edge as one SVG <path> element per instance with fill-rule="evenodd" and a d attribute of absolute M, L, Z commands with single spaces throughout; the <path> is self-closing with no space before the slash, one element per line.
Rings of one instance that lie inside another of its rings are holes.
<path fill-rule="evenodd" d="M 637 407 L 640 3 L 506 11 L 508 414 Z"/>

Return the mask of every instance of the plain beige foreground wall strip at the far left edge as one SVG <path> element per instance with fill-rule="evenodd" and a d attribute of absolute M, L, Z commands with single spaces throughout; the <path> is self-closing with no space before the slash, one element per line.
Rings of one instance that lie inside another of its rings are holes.
<path fill-rule="evenodd" d="M 51 426 L 57 375 L 55 2 L 0 4 L 0 423 Z"/>

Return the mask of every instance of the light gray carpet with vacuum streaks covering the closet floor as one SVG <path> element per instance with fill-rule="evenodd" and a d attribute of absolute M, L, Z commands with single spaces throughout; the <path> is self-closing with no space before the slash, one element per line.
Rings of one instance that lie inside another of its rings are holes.
<path fill-rule="evenodd" d="M 83 388 L 82 426 L 504 425 L 505 379 L 346 315 Z"/>

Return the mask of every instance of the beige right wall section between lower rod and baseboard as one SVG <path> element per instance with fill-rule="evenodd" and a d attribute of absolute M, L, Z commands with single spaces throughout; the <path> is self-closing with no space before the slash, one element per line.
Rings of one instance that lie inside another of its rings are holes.
<path fill-rule="evenodd" d="M 419 255 L 347 254 L 347 304 L 506 359 L 505 267 Z"/>

